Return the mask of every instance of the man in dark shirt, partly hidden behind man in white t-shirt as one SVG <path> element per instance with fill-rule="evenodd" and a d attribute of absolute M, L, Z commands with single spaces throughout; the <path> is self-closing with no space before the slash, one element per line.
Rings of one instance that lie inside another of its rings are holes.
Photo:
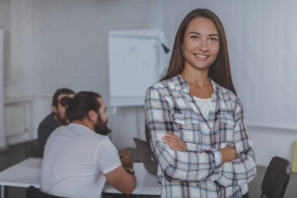
<path fill-rule="evenodd" d="M 62 88 L 58 89 L 52 97 L 52 112 L 39 124 L 38 127 L 38 143 L 41 154 L 44 153 L 49 135 L 58 127 L 67 125 L 65 117 L 65 106 L 61 105 L 63 97 L 73 98 L 75 93 L 72 90 Z"/>

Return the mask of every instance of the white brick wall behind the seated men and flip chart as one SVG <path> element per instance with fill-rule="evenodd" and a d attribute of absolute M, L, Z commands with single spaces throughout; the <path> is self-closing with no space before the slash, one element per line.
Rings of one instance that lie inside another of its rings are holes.
<path fill-rule="evenodd" d="M 109 107 L 107 32 L 148 28 L 149 8 L 148 0 L 32 0 L 34 96 L 67 87 L 98 92 Z M 36 132 L 50 101 L 34 106 Z M 107 114 L 117 148 L 145 137 L 143 108 L 119 107 L 113 115 L 109 107 Z"/>

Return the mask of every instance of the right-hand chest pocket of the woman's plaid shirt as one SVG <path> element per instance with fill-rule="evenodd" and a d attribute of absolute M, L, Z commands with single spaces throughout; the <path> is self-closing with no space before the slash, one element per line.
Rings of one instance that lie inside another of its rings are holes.
<path fill-rule="evenodd" d="M 234 128 L 235 128 L 235 122 L 233 115 L 229 114 L 221 114 L 218 115 L 217 120 L 217 128 L 218 128 L 218 138 L 219 143 L 227 143 L 225 146 L 231 146 L 231 144 L 234 141 Z M 231 144 L 230 144 L 231 143 Z M 224 146 L 221 145 L 223 148 Z"/>

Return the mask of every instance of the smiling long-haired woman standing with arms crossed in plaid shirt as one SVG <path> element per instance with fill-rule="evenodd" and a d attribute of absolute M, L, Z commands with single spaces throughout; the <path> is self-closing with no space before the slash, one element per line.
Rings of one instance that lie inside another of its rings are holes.
<path fill-rule="evenodd" d="M 163 79 L 148 88 L 146 121 L 161 197 L 241 198 L 256 175 L 224 27 L 212 11 L 182 21 Z"/>

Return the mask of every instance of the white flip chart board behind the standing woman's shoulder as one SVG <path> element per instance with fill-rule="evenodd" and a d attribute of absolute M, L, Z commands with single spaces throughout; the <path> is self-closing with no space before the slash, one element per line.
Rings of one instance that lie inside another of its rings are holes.
<path fill-rule="evenodd" d="M 147 89 L 159 81 L 168 65 L 162 45 L 169 48 L 160 30 L 108 33 L 111 106 L 144 105 Z"/>

